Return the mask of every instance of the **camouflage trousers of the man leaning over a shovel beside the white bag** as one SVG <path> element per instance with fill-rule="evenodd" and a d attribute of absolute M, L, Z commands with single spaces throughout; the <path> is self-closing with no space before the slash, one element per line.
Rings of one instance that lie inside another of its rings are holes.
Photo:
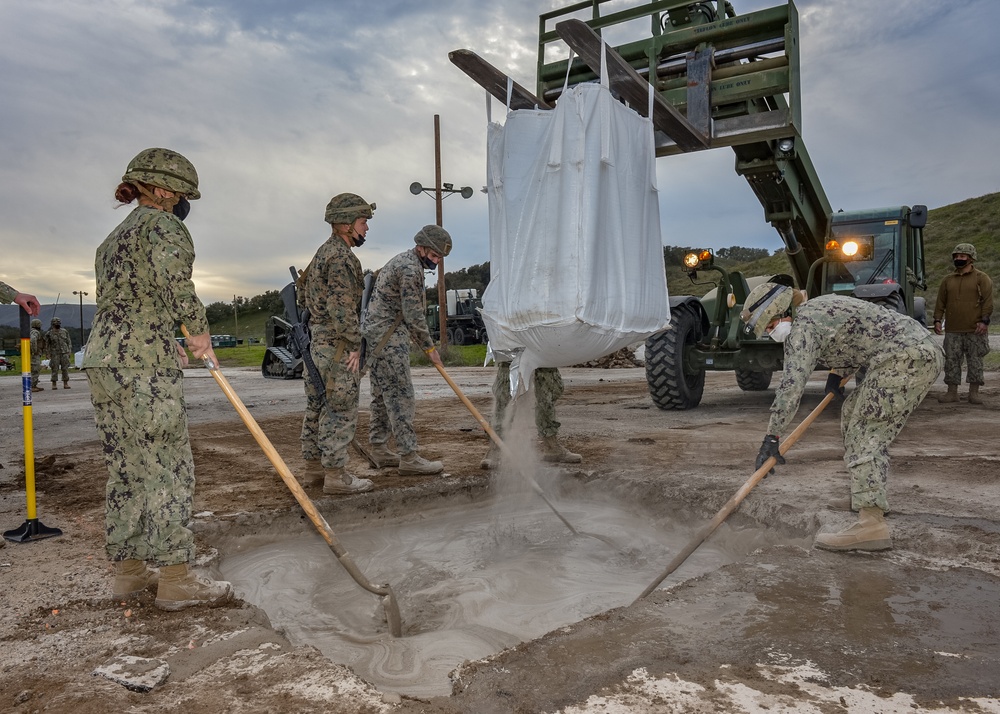
<path fill-rule="evenodd" d="M 409 339 L 395 336 L 371 363 L 372 405 L 368 422 L 368 441 L 384 444 L 390 434 L 401 454 L 417 449 L 413 417 L 417 412 L 413 379 L 410 377 Z"/>

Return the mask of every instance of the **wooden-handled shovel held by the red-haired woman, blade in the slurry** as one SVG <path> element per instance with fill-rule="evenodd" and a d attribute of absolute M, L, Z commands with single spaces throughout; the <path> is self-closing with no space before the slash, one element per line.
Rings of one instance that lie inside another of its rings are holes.
<path fill-rule="evenodd" d="M 185 337 L 190 337 L 187 328 L 181 325 L 181 332 L 184 333 Z M 205 366 L 208 367 L 209 371 L 212 373 L 212 377 L 215 378 L 216 383 L 222 388 L 229 401 L 236 408 L 237 413 L 239 413 L 240 418 L 243 423 L 246 424 L 247 429 L 253 434 L 253 438 L 257 440 L 260 448 L 264 451 L 264 455 L 267 456 L 267 460 L 271 462 L 274 470 L 278 472 L 281 480 L 285 482 L 288 486 L 288 490 L 292 492 L 295 496 L 295 500 L 299 502 L 302 510 L 305 511 L 306 515 L 309 516 L 309 520 L 312 521 L 313 525 L 316 526 L 316 530 L 319 531 L 320 535 L 330 546 L 330 550 L 333 551 L 334 555 L 337 556 L 337 560 L 340 564 L 344 566 L 344 569 L 350 573 L 354 581 L 374 595 L 382 596 L 382 607 L 385 608 L 385 619 L 389 624 L 389 633 L 393 637 L 402 637 L 403 635 L 403 620 L 399 615 L 399 603 L 396 601 L 396 594 L 392 591 L 392 588 L 388 585 L 373 585 L 371 581 L 364 576 L 361 569 L 358 568 L 357 564 L 351 558 L 350 554 L 341 545 L 340 541 L 337 540 L 336 534 L 333 529 L 330 528 L 330 524 L 326 522 L 322 514 L 316 510 L 316 506 L 313 504 L 309 496 L 306 495 L 305 491 L 302 490 L 302 486 L 299 482 L 295 480 L 295 476 L 282 461 L 281 456 L 278 454 L 278 450 L 274 448 L 270 439 L 264 434 L 257 421 L 250 414 L 249 410 L 244 406 L 242 400 L 236 392 L 233 391 L 232 386 L 229 384 L 229 380 L 225 378 L 222 372 L 219 371 L 217 365 L 213 364 L 209 358 L 205 358 Z"/>

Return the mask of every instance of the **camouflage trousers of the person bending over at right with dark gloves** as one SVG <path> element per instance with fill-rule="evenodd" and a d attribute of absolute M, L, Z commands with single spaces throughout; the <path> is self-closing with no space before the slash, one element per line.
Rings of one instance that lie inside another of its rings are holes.
<path fill-rule="evenodd" d="M 944 355 L 929 336 L 870 366 L 840 415 L 844 464 L 855 509 L 889 510 L 889 445 L 941 373 Z"/>

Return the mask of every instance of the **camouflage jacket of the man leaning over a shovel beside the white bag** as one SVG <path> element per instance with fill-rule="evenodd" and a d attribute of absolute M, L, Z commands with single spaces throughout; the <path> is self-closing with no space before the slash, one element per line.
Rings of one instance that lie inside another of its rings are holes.
<path fill-rule="evenodd" d="M 402 317 L 391 342 L 405 343 L 407 337 L 420 349 L 434 346 L 427 329 L 427 300 L 424 288 L 424 267 L 416 250 L 411 249 L 391 258 L 379 271 L 365 316 L 365 338 L 374 349 L 397 317 Z"/>

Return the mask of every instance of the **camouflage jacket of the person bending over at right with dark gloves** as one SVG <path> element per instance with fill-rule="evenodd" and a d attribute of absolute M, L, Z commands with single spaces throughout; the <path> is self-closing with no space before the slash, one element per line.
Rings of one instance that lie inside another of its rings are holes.
<path fill-rule="evenodd" d="M 860 367 L 891 371 L 901 350 L 925 341 L 940 350 L 919 322 L 874 303 L 844 295 L 807 301 L 794 313 L 785 340 L 785 370 L 767 433 L 786 433 L 817 365 L 844 375 Z"/>

